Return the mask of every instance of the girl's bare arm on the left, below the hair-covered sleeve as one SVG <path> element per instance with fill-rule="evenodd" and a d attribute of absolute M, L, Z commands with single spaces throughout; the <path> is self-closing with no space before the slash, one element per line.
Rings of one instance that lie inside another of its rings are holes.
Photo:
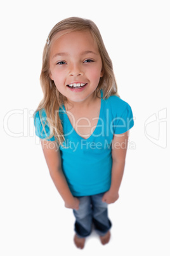
<path fill-rule="evenodd" d="M 70 192 L 69 186 L 62 171 L 60 150 L 58 150 L 56 142 L 41 139 L 41 145 L 46 163 L 48 165 L 49 174 L 55 183 L 56 189 L 65 202 L 65 207 L 78 210 L 79 200 L 72 196 L 72 193 Z"/>

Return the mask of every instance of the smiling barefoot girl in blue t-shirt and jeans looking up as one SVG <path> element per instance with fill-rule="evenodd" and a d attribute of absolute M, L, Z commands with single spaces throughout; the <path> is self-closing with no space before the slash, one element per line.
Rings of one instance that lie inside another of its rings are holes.
<path fill-rule="evenodd" d="M 84 247 L 92 225 L 105 245 L 107 205 L 119 198 L 133 114 L 117 94 L 112 61 L 91 20 L 72 17 L 53 27 L 41 86 L 36 135 L 65 207 L 74 210 L 75 245 Z"/>

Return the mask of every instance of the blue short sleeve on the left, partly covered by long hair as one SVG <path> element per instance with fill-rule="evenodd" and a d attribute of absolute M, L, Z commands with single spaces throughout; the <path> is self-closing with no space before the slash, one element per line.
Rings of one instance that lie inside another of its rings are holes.
<path fill-rule="evenodd" d="M 45 110 L 39 110 L 36 112 L 34 115 L 34 126 L 36 129 L 36 136 L 48 141 L 55 141 L 55 137 L 50 133 Z"/>

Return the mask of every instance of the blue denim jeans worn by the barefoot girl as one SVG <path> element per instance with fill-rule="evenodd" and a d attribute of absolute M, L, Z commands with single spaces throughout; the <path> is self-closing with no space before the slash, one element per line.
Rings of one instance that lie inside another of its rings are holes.
<path fill-rule="evenodd" d="M 100 236 L 104 236 L 112 226 L 108 219 L 107 203 L 101 201 L 103 194 L 77 197 L 80 201 L 79 210 L 73 210 L 73 212 L 74 230 L 79 238 L 89 236 L 93 225 Z"/>

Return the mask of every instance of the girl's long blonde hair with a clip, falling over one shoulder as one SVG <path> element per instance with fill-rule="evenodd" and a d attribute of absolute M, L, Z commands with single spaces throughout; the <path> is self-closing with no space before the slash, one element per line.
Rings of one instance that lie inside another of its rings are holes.
<path fill-rule="evenodd" d="M 98 45 L 98 51 L 100 53 L 102 61 L 103 76 L 100 78 L 100 82 L 98 83 L 98 87 L 96 88 L 96 97 L 100 97 L 101 89 L 103 91 L 103 99 L 107 99 L 112 95 L 119 96 L 117 94 L 117 83 L 115 81 L 112 60 L 108 56 L 107 50 L 103 43 L 103 39 L 101 38 L 100 31 L 98 30 L 98 27 L 95 25 L 95 23 L 91 20 L 79 17 L 70 17 L 58 22 L 49 32 L 48 41 L 44 46 L 40 76 L 40 82 L 44 97 L 39 106 L 37 107 L 35 113 L 39 111 L 39 115 L 41 118 L 41 110 L 44 109 L 46 111 L 48 125 L 51 131 L 51 136 L 49 136 L 49 138 L 55 136 L 55 139 L 59 145 L 62 145 L 64 141 L 63 127 L 59 116 L 59 109 L 67 101 L 67 98 L 56 89 L 55 83 L 49 77 L 49 53 L 51 41 L 53 41 L 56 33 L 66 30 L 69 30 L 69 32 L 89 31 Z M 45 125 L 46 123 L 42 123 L 42 129 L 44 130 L 44 132 Z"/>

